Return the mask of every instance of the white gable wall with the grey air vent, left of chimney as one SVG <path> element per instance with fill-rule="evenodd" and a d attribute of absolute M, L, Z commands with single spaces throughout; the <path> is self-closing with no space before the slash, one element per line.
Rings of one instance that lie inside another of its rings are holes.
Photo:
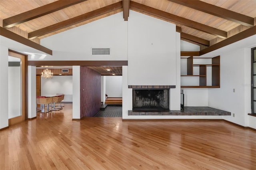
<path fill-rule="evenodd" d="M 40 42 L 53 50 L 53 56 L 47 55 L 45 60 L 127 60 L 127 22 L 120 12 Z M 110 55 L 92 56 L 92 48 L 110 48 Z"/>

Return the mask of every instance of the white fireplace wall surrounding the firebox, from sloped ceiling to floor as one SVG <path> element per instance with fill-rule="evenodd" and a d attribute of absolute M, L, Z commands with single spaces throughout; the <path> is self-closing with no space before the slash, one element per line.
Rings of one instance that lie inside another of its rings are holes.
<path fill-rule="evenodd" d="M 123 66 L 123 119 L 171 119 L 128 116 L 132 89 L 128 85 L 176 85 L 170 109 L 180 110 L 180 33 L 176 25 L 131 11 L 128 20 L 128 66 Z"/>

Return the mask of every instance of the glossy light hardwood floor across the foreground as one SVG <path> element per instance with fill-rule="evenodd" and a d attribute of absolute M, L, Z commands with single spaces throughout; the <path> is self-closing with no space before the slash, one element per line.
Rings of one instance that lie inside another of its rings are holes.
<path fill-rule="evenodd" d="M 256 132 L 224 121 L 72 121 L 72 105 L 0 131 L 0 169 L 254 170 Z"/>

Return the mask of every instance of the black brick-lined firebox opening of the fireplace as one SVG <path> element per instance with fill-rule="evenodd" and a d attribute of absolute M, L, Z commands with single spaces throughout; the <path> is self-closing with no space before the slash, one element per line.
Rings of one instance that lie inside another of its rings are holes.
<path fill-rule="evenodd" d="M 133 89 L 133 109 L 169 110 L 169 89 Z"/>

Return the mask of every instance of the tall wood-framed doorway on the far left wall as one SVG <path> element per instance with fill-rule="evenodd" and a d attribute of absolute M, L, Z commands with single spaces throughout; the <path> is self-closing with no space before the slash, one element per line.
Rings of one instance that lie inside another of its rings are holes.
<path fill-rule="evenodd" d="M 8 118 L 9 125 L 14 125 L 28 119 L 28 56 L 12 50 L 9 50 L 8 55 Z"/>

